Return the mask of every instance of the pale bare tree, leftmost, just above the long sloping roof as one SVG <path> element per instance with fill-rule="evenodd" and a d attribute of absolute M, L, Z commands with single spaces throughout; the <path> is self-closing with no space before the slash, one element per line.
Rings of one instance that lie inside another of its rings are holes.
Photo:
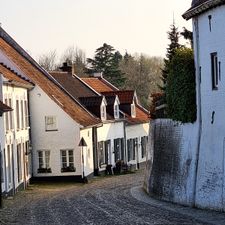
<path fill-rule="evenodd" d="M 39 56 L 38 63 L 46 70 L 51 71 L 56 69 L 57 54 L 56 50 L 50 51 L 49 53 Z"/>

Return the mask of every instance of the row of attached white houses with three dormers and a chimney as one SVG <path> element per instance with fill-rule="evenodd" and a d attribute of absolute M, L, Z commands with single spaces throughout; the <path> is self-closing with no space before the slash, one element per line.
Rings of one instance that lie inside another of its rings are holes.
<path fill-rule="evenodd" d="M 138 104 L 135 91 L 120 91 L 102 76 L 79 78 L 67 63 L 60 69 L 50 74 L 102 121 L 93 146 L 95 174 L 121 160 L 135 169 L 145 165 L 149 117 Z"/>

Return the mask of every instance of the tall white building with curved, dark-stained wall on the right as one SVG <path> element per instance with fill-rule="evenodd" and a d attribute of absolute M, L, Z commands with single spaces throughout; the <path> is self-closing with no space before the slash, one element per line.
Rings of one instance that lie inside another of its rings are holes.
<path fill-rule="evenodd" d="M 225 2 L 193 0 L 197 120 L 152 121 L 145 188 L 158 198 L 225 211 Z"/>

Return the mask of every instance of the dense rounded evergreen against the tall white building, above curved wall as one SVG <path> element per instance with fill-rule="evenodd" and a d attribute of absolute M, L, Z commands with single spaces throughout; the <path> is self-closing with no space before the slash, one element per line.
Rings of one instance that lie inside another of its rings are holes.
<path fill-rule="evenodd" d="M 195 67 L 193 50 L 181 47 L 174 52 L 167 77 L 167 113 L 173 120 L 196 120 Z"/>

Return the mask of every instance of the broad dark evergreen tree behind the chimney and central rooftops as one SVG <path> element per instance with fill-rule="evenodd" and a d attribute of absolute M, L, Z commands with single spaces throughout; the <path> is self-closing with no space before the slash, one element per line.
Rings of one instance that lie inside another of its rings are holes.
<path fill-rule="evenodd" d="M 91 64 L 88 72 L 102 72 L 109 82 L 119 88 L 123 87 L 125 78 L 119 69 L 121 60 L 120 52 L 115 52 L 111 45 L 104 43 L 102 47 L 96 49 L 94 59 L 87 59 L 87 62 Z"/>

